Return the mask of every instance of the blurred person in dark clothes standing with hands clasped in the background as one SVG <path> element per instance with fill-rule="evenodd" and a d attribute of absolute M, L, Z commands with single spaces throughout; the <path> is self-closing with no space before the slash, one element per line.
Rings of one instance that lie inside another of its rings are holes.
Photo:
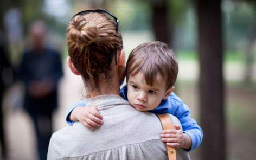
<path fill-rule="evenodd" d="M 44 22 L 35 21 L 29 34 L 33 47 L 24 53 L 18 75 L 25 87 L 24 108 L 33 119 L 40 160 L 45 160 L 52 135 L 52 114 L 57 108 L 57 84 L 63 71 L 60 54 L 44 46 Z"/>

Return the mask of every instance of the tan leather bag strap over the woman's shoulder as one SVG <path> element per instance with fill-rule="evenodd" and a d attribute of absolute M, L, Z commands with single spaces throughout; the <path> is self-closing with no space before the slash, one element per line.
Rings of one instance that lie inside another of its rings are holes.
<path fill-rule="evenodd" d="M 174 129 L 174 125 L 172 125 L 171 117 L 168 113 L 164 114 L 156 114 L 162 123 L 163 130 Z M 166 143 L 165 143 L 166 145 Z M 167 155 L 169 160 L 176 160 L 176 149 L 166 145 Z"/>

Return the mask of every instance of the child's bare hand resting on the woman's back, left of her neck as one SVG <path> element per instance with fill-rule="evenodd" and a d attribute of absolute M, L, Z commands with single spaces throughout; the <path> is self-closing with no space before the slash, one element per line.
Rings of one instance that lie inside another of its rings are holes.
<path fill-rule="evenodd" d="M 71 112 L 70 117 L 72 121 L 80 121 L 88 129 L 94 129 L 103 124 L 103 117 L 100 115 L 97 107 L 87 105 L 75 107 Z"/>

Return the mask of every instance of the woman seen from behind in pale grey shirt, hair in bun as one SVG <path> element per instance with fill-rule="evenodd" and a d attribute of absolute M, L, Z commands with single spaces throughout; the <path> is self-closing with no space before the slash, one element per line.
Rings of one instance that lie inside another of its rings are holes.
<path fill-rule="evenodd" d="M 111 17 L 111 18 L 110 18 Z M 75 122 L 53 134 L 48 159 L 167 159 L 159 137 L 162 126 L 153 113 L 135 110 L 119 94 L 125 56 L 118 20 L 104 10 L 76 14 L 68 24 L 67 63 L 81 75 L 87 105 L 98 108 L 104 124 L 90 130 Z M 172 117 L 174 124 L 180 124 Z M 177 159 L 187 153 L 177 149 Z"/>

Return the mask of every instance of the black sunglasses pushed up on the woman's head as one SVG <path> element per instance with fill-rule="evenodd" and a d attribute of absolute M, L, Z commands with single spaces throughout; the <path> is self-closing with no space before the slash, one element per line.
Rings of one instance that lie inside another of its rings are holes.
<path fill-rule="evenodd" d="M 95 10 L 83 10 L 83 11 L 80 11 L 78 12 L 77 14 L 75 14 L 73 16 L 73 18 L 77 15 L 86 15 L 87 13 L 89 12 L 97 12 L 97 13 L 100 13 L 100 14 L 104 14 L 106 15 L 107 17 L 110 17 L 112 20 L 114 20 L 116 22 L 116 33 L 118 33 L 118 24 L 119 24 L 119 20 L 117 19 L 117 17 L 115 17 L 114 15 L 112 15 L 110 12 L 108 11 L 105 11 L 103 9 L 95 9 Z M 114 54 L 116 56 L 115 58 L 115 62 L 116 62 L 116 65 L 117 65 L 117 47 L 114 48 Z"/>

